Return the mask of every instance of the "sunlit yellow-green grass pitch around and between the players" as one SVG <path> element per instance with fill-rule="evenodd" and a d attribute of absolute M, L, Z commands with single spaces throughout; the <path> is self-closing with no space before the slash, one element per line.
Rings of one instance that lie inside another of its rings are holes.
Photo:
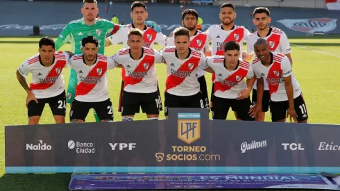
<path fill-rule="evenodd" d="M 0 38 L 0 126 L 27 124 L 25 106 L 26 92 L 17 82 L 15 72 L 26 58 L 37 53 L 39 38 Z M 307 104 L 310 123 L 340 124 L 340 38 L 290 38 L 294 60 L 293 71 L 303 90 Z M 105 55 L 112 56 L 121 45 L 105 49 Z M 156 49 L 159 47 L 156 46 Z M 62 50 L 69 50 L 69 44 Z M 167 78 L 166 65 L 159 64 L 157 76 L 160 83 L 162 103 L 164 106 L 164 83 Z M 69 68 L 64 69 L 65 87 L 69 78 Z M 121 69 L 108 72 L 109 92 L 114 108 L 114 121 L 121 121 L 121 113 L 117 112 L 119 90 L 121 87 Z M 211 91 L 211 74 L 206 75 L 208 92 Z M 31 76 L 28 77 L 28 83 Z M 231 110 L 230 110 L 231 111 Z M 67 122 L 69 122 L 69 106 L 67 106 Z M 211 117 L 211 114 L 210 114 Z M 160 113 L 164 119 L 164 111 Z M 145 114 L 135 115 L 135 120 L 146 119 Z M 235 119 L 232 112 L 228 119 Z M 266 121 L 270 122 L 267 113 Z M 53 123 L 49 106 L 45 106 L 40 124 Z M 92 111 L 87 122 L 94 122 Z M 67 190 L 70 174 L 4 174 L 5 142 L 4 128 L 0 131 L 0 190 Z"/>

